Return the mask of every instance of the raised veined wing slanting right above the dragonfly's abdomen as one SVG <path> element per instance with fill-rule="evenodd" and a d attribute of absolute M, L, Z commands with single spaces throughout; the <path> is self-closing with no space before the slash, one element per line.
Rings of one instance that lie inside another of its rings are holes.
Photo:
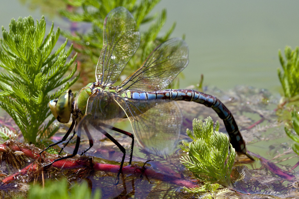
<path fill-rule="evenodd" d="M 181 38 L 167 40 L 119 87 L 124 90 L 162 90 L 187 66 L 188 53 L 188 46 Z"/>

